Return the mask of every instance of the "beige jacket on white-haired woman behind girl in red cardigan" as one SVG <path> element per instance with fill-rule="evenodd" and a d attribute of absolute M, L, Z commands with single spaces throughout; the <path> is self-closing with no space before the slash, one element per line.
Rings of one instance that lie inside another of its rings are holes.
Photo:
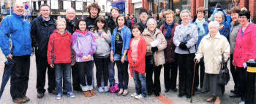
<path fill-rule="evenodd" d="M 152 55 L 151 52 L 151 42 L 156 39 L 159 41 L 159 45 L 157 47 L 158 52 L 154 53 L 154 63 L 155 65 L 162 65 L 165 64 L 165 53 L 164 49 L 167 47 L 167 42 L 165 40 L 165 36 L 162 34 L 162 32 L 156 28 L 156 31 L 154 32 L 154 35 L 151 35 L 151 33 L 148 31 L 148 28 L 145 28 L 145 30 L 142 33 L 144 39 L 147 43 L 147 53 L 146 55 Z"/>

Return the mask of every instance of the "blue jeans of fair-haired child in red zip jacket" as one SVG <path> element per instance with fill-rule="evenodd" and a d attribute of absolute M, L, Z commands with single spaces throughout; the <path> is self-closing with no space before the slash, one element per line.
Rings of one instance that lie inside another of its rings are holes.
<path fill-rule="evenodd" d="M 70 63 L 55 64 L 56 90 L 62 93 L 62 79 L 64 79 L 64 92 L 72 92 Z"/>

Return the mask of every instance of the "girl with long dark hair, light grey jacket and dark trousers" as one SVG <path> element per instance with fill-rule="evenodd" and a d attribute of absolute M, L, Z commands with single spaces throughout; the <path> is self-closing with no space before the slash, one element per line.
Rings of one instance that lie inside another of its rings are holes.
<path fill-rule="evenodd" d="M 97 43 L 97 49 L 94 53 L 97 87 L 99 92 L 108 92 L 108 64 L 110 63 L 111 33 L 104 17 L 97 17 L 93 32 L 94 39 Z M 101 85 L 102 77 L 104 86 Z"/>

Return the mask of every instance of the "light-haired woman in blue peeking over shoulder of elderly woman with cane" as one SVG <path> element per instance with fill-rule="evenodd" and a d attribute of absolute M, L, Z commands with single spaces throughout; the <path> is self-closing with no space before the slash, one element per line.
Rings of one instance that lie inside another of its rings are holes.
<path fill-rule="evenodd" d="M 223 20 L 225 20 L 225 15 L 223 12 L 218 11 L 214 14 L 214 20 L 216 20 L 219 23 L 219 33 L 225 36 L 226 38 L 230 34 L 230 29 L 227 25 L 223 24 Z"/>

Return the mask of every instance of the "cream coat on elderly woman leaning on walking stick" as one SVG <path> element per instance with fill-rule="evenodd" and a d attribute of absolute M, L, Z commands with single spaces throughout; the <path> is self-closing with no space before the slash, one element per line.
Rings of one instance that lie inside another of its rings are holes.
<path fill-rule="evenodd" d="M 219 74 L 222 54 L 226 62 L 230 57 L 230 44 L 226 37 L 217 33 L 214 38 L 211 38 L 210 34 L 208 34 L 200 41 L 195 58 L 200 60 L 203 57 L 206 73 Z"/>

